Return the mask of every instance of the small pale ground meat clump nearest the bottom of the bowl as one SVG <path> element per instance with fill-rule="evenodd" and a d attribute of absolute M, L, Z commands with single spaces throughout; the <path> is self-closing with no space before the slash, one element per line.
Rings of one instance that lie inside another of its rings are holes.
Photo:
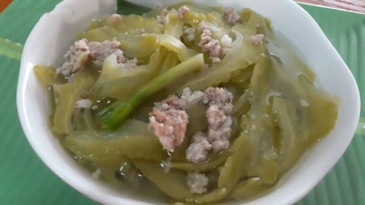
<path fill-rule="evenodd" d="M 197 172 L 190 172 L 187 176 L 187 183 L 191 193 L 201 194 L 207 192 L 206 186 L 208 185 L 208 177 L 205 174 Z"/>

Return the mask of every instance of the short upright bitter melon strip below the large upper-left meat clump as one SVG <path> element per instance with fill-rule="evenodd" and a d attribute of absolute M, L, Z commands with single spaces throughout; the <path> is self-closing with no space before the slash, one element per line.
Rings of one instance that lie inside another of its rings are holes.
<path fill-rule="evenodd" d="M 58 134 L 69 134 L 72 131 L 71 116 L 76 108 L 76 101 L 85 94 L 87 89 L 94 83 L 94 80 L 78 72 L 74 76 L 73 83 L 54 85 L 53 88 L 59 93 L 59 102 L 54 114 L 53 131 Z"/>

